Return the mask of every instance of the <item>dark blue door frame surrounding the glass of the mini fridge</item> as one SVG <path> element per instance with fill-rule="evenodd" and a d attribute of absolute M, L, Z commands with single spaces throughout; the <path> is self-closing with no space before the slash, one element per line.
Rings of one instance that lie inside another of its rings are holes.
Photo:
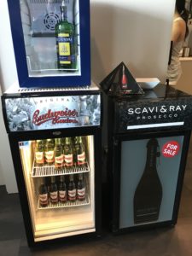
<path fill-rule="evenodd" d="M 8 0 L 15 61 L 20 87 L 72 87 L 90 85 L 90 1 L 79 1 L 80 67 L 79 74 L 32 76 L 28 73 L 26 47 L 20 15 L 20 1 Z M 53 36 L 52 36 L 53 37 Z"/>

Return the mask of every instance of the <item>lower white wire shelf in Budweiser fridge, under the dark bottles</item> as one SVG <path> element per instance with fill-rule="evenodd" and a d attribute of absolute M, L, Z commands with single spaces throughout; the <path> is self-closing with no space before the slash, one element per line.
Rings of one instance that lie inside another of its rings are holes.
<path fill-rule="evenodd" d="M 52 204 L 49 202 L 49 205 L 47 207 L 41 207 L 39 200 L 38 200 L 38 210 L 48 210 L 48 209 L 55 209 L 55 208 L 65 208 L 65 207 L 82 207 L 87 206 L 90 204 L 90 198 L 88 195 L 86 195 L 86 198 L 84 201 L 67 201 L 65 203 L 61 203 L 60 201 L 56 204 Z"/>

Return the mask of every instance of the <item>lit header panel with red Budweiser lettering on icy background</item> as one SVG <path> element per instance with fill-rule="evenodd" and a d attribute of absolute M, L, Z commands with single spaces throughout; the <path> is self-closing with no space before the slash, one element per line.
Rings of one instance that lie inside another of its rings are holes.
<path fill-rule="evenodd" d="M 9 131 L 35 131 L 100 125 L 101 97 L 53 96 L 5 100 Z"/>

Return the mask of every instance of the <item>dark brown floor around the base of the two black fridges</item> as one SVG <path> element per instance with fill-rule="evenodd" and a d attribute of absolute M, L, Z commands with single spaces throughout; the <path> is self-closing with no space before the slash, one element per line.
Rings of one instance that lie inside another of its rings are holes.
<path fill-rule="evenodd" d="M 7 195 L 0 187 L 0 256 L 191 256 L 192 255 L 192 143 L 183 184 L 179 217 L 174 228 L 134 232 L 121 236 L 74 241 L 30 250 L 20 212 L 18 195 Z"/>

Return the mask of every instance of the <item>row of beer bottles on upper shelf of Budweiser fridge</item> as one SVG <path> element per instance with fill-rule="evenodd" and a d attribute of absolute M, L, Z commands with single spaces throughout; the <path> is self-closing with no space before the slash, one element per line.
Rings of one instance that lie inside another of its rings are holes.
<path fill-rule="evenodd" d="M 82 137 L 36 141 L 35 162 L 37 166 L 55 165 L 56 169 L 63 166 L 84 166 L 86 157 Z"/>

